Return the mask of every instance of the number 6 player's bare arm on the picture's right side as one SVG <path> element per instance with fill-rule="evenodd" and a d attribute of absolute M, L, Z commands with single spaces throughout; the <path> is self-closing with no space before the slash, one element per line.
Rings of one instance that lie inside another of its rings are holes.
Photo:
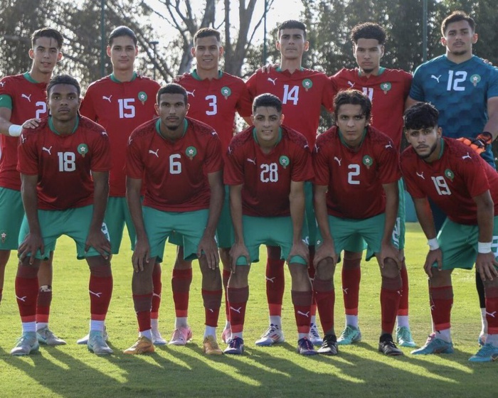
<path fill-rule="evenodd" d="M 197 247 L 197 257 L 201 257 L 202 254 L 205 254 L 206 259 L 208 260 L 208 267 L 211 269 L 216 269 L 220 262 L 215 235 L 216 225 L 218 225 L 218 220 L 220 219 L 221 208 L 223 208 L 223 198 L 225 196 L 222 176 L 223 172 L 221 170 L 208 173 L 208 183 L 209 188 L 211 189 L 208 223 Z"/>

